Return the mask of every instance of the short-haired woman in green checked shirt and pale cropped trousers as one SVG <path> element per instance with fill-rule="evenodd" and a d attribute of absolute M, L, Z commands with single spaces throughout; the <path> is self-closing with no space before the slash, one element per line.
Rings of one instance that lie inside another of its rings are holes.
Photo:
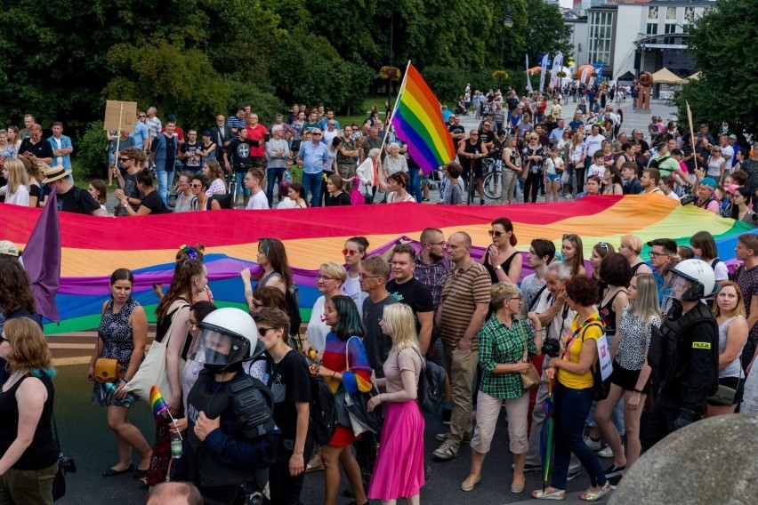
<path fill-rule="evenodd" d="M 524 463 L 527 461 L 529 394 L 521 382 L 528 372 L 524 352 L 538 356 L 542 348 L 542 325 L 531 317 L 534 333 L 519 316 L 519 287 L 509 282 L 492 285 L 489 290 L 495 314 L 479 333 L 479 363 L 482 377 L 477 394 L 476 428 L 472 438 L 472 468 L 461 484 L 472 491 L 481 480 L 481 467 L 495 435 L 497 418 L 505 406 L 508 414 L 508 438 L 513 455 L 512 493 L 524 490 Z M 534 314 L 534 313 L 532 313 Z"/>

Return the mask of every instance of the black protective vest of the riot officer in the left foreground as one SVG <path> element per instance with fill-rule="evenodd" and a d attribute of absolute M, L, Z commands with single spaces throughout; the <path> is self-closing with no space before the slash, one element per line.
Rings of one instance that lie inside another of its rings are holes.
<path fill-rule="evenodd" d="M 255 469 L 238 469 L 230 467 L 218 461 L 213 451 L 209 451 L 203 442 L 195 435 L 195 420 L 200 411 L 206 413 L 206 417 L 214 419 L 224 411 L 231 409 L 231 397 L 227 392 L 227 383 L 220 385 L 215 393 L 206 389 L 210 373 L 203 370 L 198 375 L 198 381 L 189 391 L 188 404 L 188 429 L 187 429 L 187 461 L 189 467 L 189 479 L 202 486 L 215 487 L 222 485 L 243 485 L 254 482 Z M 232 380 L 234 381 L 234 380 Z M 242 430 L 238 429 L 238 437 L 244 437 Z M 229 435 L 229 434 L 227 434 Z"/>

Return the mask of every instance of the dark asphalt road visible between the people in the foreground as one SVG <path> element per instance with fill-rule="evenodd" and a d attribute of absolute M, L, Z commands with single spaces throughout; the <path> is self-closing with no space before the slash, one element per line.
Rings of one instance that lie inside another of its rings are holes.
<path fill-rule="evenodd" d="M 61 337 L 53 337 L 53 347 L 58 347 Z M 91 337 L 67 337 L 69 346 L 78 348 L 89 347 L 86 342 L 92 342 Z M 72 343 L 78 340 L 79 343 Z M 60 362 L 83 362 L 85 359 L 73 357 L 77 349 L 65 349 L 68 357 L 59 360 L 58 375 L 55 384 L 55 414 L 60 432 L 60 442 L 63 453 L 75 458 L 77 473 L 67 476 L 68 493 L 58 501 L 64 505 L 95 505 L 101 503 L 118 503 L 119 505 L 137 505 L 145 503 L 147 491 L 142 489 L 137 481 L 129 475 L 118 477 L 101 477 L 103 470 L 117 462 L 116 446 L 112 432 L 105 421 L 105 409 L 90 401 L 92 387 L 85 382 L 86 365 L 60 365 Z M 79 356 L 86 354 L 86 349 L 78 349 Z M 59 349 L 54 349 L 56 355 Z M 153 437 L 152 413 L 145 402 L 138 402 L 130 410 L 130 418 L 141 429 L 145 437 L 151 441 Z M 528 492 L 541 486 L 541 474 L 528 473 L 527 487 L 523 493 L 511 493 L 512 457 L 508 450 L 508 431 L 505 425 L 505 412 L 498 422 L 496 436 L 491 452 L 485 461 L 482 480 L 470 493 L 460 490 L 460 484 L 468 475 L 471 463 L 471 449 L 462 447 L 460 455 L 452 461 L 435 461 L 431 452 L 437 448 L 438 442 L 434 435 L 443 431 L 439 416 L 427 416 L 424 432 L 425 453 L 431 464 L 432 476 L 422 490 L 422 502 L 425 503 L 464 503 L 475 501 L 480 505 L 518 503 L 528 501 Z M 137 455 L 134 454 L 134 461 Z M 609 464 L 609 461 L 604 461 Z M 302 503 L 318 504 L 324 500 L 324 481 L 322 472 L 307 475 L 302 492 Z M 577 495 L 589 484 L 585 472 L 568 484 L 568 500 L 578 503 Z M 347 480 L 343 477 L 343 489 L 347 488 Z M 351 501 L 342 497 L 337 503 L 346 504 Z"/>

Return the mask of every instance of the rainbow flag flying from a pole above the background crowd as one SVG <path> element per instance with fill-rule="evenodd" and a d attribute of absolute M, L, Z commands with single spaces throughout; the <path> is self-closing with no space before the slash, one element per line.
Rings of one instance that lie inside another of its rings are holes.
<path fill-rule="evenodd" d="M 410 62 L 392 114 L 392 126 L 398 138 L 407 143 L 408 153 L 424 173 L 436 170 L 456 157 L 439 100 Z"/>

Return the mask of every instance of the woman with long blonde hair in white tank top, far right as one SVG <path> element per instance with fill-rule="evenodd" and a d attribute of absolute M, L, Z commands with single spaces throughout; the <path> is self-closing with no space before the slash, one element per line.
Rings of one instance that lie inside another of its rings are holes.
<path fill-rule="evenodd" d="M 714 303 L 714 316 L 719 325 L 719 387 L 734 389 L 735 395 L 730 405 L 709 399 L 707 417 L 734 413 L 745 392 L 742 349 L 747 341 L 749 326 L 745 318 L 742 291 L 736 282 L 722 282 L 722 289 L 716 295 Z"/>

